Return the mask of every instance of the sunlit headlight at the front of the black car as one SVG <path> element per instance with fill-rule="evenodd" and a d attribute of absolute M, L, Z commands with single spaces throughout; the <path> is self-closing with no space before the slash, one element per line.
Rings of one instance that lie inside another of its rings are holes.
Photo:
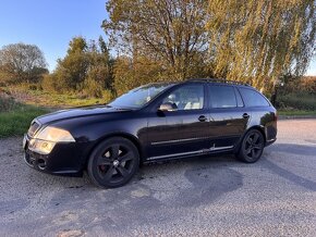
<path fill-rule="evenodd" d="M 53 142 L 73 142 L 73 136 L 64 129 L 47 126 L 39 130 L 35 138 Z"/>

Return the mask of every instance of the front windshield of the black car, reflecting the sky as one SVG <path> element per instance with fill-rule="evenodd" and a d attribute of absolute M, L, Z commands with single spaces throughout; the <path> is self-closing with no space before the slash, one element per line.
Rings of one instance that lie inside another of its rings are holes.
<path fill-rule="evenodd" d="M 118 97 L 109 103 L 116 108 L 138 109 L 153 100 L 159 92 L 170 87 L 172 84 L 148 84 L 137 87 Z"/>

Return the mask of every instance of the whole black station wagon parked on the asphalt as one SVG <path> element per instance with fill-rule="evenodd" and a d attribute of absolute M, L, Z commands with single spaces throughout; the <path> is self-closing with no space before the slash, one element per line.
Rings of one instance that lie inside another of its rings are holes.
<path fill-rule="evenodd" d="M 256 89 L 192 79 L 148 84 L 105 105 L 36 117 L 23 148 L 36 170 L 86 170 L 96 185 L 119 187 L 151 161 L 226 152 L 256 162 L 276 136 L 276 109 Z"/>

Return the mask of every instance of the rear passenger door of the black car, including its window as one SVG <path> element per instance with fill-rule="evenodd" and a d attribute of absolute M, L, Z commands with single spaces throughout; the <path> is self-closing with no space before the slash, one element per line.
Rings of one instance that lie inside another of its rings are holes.
<path fill-rule="evenodd" d="M 232 85 L 209 84 L 211 150 L 232 149 L 246 129 L 250 114 Z"/>

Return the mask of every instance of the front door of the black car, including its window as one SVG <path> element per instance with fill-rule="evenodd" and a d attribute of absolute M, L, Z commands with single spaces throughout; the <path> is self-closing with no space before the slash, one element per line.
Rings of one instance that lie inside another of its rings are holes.
<path fill-rule="evenodd" d="M 196 154 L 209 148 L 204 84 L 178 87 L 161 99 L 162 103 L 172 104 L 173 110 L 154 112 L 148 118 L 149 160 Z"/>

